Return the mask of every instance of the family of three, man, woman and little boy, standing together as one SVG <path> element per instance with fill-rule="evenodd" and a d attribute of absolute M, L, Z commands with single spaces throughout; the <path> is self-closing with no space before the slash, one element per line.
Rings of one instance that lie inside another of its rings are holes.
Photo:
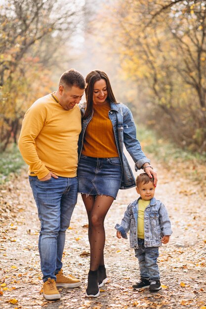
<path fill-rule="evenodd" d="M 80 103 L 85 91 L 85 103 Z M 135 182 L 123 153 L 131 155 Z M 118 103 L 108 76 L 92 71 L 86 78 L 66 71 L 58 89 L 38 99 L 26 112 L 19 149 L 29 165 L 29 182 L 41 222 L 39 253 L 43 294 L 60 299 L 57 287 L 75 288 L 82 282 L 63 273 L 65 233 L 78 193 L 88 216 L 90 268 L 86 297 L 98 297 L 107 282 L 104 262 L 104 219 L 119 189 L 136 187 L 132 201 L 116 225 L 117 237 L 130 238 L 139 261 L 140 278 L 132 287 L 161 289 L 157 265 L 159 246 L 166 244 L 171 225 L 164 204 L 154 197 L 157 174 L 136 139 L 131 111 Z"/>

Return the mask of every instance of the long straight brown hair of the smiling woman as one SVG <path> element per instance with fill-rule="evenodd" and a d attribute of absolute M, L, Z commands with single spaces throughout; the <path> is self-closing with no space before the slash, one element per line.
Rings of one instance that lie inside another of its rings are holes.
<path fill-rule="evenodd" d="M 89 74 L 86 76 L 86 89 L 85 89 L 85 96 L 86 96 L 86 111 L 83 116 L 83 118 L 88 118 L 91 116 L 92 111 L 93 111 L 93 89 L 94 89 L 94 83 L 97 80 L 100 79 L 105 79 L 106 85 L 107 85 L 107 100 L 109 102 L 114 102 L 117 103 L 115 96 L 112 91 L 112 87 L 109 81 L 109 77 L 106 75 L 106 73 L 102 71 L 91 71 Z"/>

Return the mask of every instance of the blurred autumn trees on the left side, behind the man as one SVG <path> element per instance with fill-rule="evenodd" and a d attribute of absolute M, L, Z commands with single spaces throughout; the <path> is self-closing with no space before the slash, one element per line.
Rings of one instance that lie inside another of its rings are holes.
<path fill-rule="evenodd" d="M 16 141 L 25 110 L 51 87 L 81 26 L 77 0 L 5 0 L 0 6 L 0 148 Z M 50 78 L 48 78 L 50 77 Z"/>

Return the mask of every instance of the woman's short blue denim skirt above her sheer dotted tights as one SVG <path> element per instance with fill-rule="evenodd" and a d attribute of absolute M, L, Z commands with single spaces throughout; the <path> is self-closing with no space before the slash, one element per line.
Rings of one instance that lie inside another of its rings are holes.
<path fill-rule="evenodd" d="M 88 195 L 110 195 L 116 199 L 122 179 L 120 158 L 94 158 L 81 154 L 77 176 L 78 192 Z"/>

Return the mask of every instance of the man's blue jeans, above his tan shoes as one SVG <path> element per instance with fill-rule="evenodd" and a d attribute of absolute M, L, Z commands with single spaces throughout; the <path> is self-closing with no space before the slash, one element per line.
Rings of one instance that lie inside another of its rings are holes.
<path fill-rule="evenodd" d="M 29 176 L 29 181 L 41 222 L 39 252 L 43 282 L 48 278 L 56 280 L 55 274 L 62 268 L 66 230 L 77 203 L 78 179 L 51 177 L 40 181 Z"/>

